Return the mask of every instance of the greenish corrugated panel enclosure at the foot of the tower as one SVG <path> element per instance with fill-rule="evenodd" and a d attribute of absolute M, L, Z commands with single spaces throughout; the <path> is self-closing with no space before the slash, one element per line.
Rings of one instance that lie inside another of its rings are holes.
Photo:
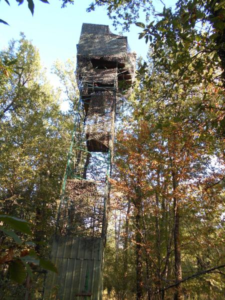
<path fill-rule="evenodd" d="M 44 300 L 101 300 L 103 240 L 100 237 L 55 236 Z"/>

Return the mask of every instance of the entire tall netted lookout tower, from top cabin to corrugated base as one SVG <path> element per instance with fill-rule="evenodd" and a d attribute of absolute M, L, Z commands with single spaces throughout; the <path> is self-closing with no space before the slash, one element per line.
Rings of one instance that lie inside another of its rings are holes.
<path fill-rule="evenodd" d="M 116 106 L 134 78 L 135 53 L 108 26 L 82 25 L 76 78 L 80 97 L 67 157 L 44 299 L 101 300 Z M 55 286 L 58 291 L 53 292 Z"/>

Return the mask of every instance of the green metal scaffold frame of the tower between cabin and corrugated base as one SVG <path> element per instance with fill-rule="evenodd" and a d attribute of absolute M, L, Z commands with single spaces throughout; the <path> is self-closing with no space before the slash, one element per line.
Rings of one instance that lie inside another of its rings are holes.
<path fill-rule="evenodd" d="M 85 77 L 86 79 L 86 77 Z M 90 87 L 91 85 L 91 87 Z M 88 86 L 88 97 L 86 92 L 86 87 Z M 69 220 L 63 218 L 62 210 L 63 207 L 68 207 L 68 192 L 66 190 L 66 182 L 71 182 L 69 180 L 77 180 L 77 183 L 81 183 L 84 185 L 83 181 L 86 181 L 86 185 L 96 185 L 95 197 L 100 196 L 102 201 L 102 222 L 97 230 L 92 230 L 92 234 L 88 232 L 88 236 L 101 236 L 105 239 L 106 235 L 106 210 L 107 210 L 107 202 L 109 197 L 110 183 L 108 181 L 111 175 L 111 167 L 112 167 L 112 146 L 108 147 L 105 152 L 93 152 L 88 151 L 88 139 L 86 138 L 85 132 L 85 124 L 87 119 L 88 110 L 85 105 L 89 105 L 89 100 L 91 96 L 98 95 L 98 92 L 102 92 L 102 87 L 94 86 L 91 77 L 88 77 L 88 81 L 81 80 L 79 84 L 79 100 L 77 104 L 77 112 L 75 114 L 74 120 L 74 128 L 72 131 L 72 138 L 70 142 L 70 147 L 67 155 L 67 163 L 65 168 L 65 173 L 62 181 L 61 187 L 61 196 L 60 203 L 58 207 L 57 213 L 57 221 L 56 226 L 57 229 L 62 234 L 71 234 L 71 228 L 69 224 Z M 105 90 L 109 92 L 113 97 L 113 116 L 112 121 L 115 122 L 115 103 L 116 103 L 116 78 L 113 78 L 113 86 L 104 86 L 103 92 Z M 101 95 L 101 94 L 100 94 Z M 111 138 L 114 138 L 114 128 L 115 126 L 112 124 L 112 134 Z M 113 145 L 113 142 L 111 142 Z M 88 160 L 88 163 L 87 163 Z M 89 170 L 88 170 L 89 167 Z M 76 195 L 77 196 L 77 195 Z M 93 196 L 93 194 L 91 194 Z M 77 198 L 77 197 L 76 197 Z M 74 208 L 73 208 L 74 209 Z M 68 211 L 66 211 L 66 216 L 68 216 Z M 94 216 L 93 216 L 94 218 Z M 63 224 L 60 226 L 60 223 Z M 94 222 L 93 222 L 94 223 Z M 67 224 L 67 228 L 65 228 L 65 224 Z M 96 224 L 95 224 L 96 225 Z M 79 235 L 79 232 L 73 232 L 75 235 Z M 81 235 L 84 235 L 84 231 L 82 230 Z"/>

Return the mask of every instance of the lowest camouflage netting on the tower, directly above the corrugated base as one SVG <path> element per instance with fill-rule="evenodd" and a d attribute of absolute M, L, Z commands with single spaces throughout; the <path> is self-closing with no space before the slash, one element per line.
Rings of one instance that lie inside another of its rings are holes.
<path fill-rule="evenodd" d="M 59 216 L 61 234 L 100 236 L 103 190 L 92 180 L 67 179 Z"/>

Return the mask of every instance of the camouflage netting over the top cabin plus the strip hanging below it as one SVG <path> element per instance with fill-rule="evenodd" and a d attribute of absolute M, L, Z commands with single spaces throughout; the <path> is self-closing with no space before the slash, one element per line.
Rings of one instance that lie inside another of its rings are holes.
<path fill-rule="evenodd" d="M 107 25 L 83 23 L 76 75 L 78 84 L 82 80 L 89 151 L 112 150 L 115 102 L 119 104 L 119 92 L 130 87 L 134 70 L 135 53 L 130 52 L 126 36 L 113 34 Z"/>

